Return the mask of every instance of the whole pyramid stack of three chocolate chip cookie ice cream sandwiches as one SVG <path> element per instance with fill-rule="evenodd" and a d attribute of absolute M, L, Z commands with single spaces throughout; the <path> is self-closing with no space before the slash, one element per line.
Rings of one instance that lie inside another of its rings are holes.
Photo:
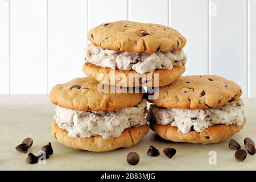
<path fill-rule="evenodd" d="M 88 77 L 50 93 L 57 105 L 52 133 L 65 146 L 131 147 L 148 133 L 148 122 L 167 140 L 217 143 L 245 125 L 240 86 L 218 76 L 181 76 L 186 39 L 173 28 L 118 21 L 93 28 L 88 40 L 82 67 Z M 147 94 L 149 111 L 142 86 L 158 88 Z"/>

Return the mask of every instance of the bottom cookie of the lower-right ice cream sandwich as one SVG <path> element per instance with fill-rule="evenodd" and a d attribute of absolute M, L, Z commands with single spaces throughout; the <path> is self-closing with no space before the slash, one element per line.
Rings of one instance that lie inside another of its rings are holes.
<path fill-rule="evenodd" d="M 190 131 L 188 134 L 181 133 L 177 130 L 176 126 L 157 125 L 155 122 L 150 123 L 150 129 L 163 139 L 171 140 L 172 142 L 210 144 L 232 137 L 242 130 L 245 122 L 246 119 L 244 118 L 243 124 L 240 127 L 237 125 L 213 125 L 202 132 Z"/>

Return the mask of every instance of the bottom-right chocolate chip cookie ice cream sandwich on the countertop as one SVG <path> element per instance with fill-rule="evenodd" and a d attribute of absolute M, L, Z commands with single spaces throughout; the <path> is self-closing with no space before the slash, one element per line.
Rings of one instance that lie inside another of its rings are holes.
<path fill-rule="evenodd" d="M 181 76 L 156 92 L 147 120 L 164 139 L 218 143 L 245 125 L 240 86 L 220 76 Z"/>

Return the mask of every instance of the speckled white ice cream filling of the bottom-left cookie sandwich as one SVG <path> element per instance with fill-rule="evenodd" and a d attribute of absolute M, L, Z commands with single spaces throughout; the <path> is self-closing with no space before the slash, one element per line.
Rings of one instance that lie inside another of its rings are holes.
<path fill-rule="evenodd" d="M 115 111 L 77 111 L 57 106 L 54 116 L 57 125 L 68 131 L 69 137 L 92 137 L 101 135 L 104 139 L 119 137 L 123 130 L 146 125 L 147 101 L 133 107 Z"/>

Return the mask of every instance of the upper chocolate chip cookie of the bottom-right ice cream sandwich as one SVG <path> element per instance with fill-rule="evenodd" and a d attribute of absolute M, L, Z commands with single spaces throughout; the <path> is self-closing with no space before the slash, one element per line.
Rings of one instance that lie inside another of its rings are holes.
<path fill-rule="evenodd" d="M 181 76 L 159 88 L 157 106 L 179 109 L 209 109 L 233 105 L 242 94 L 240 86 L 220 76 Z"/>

